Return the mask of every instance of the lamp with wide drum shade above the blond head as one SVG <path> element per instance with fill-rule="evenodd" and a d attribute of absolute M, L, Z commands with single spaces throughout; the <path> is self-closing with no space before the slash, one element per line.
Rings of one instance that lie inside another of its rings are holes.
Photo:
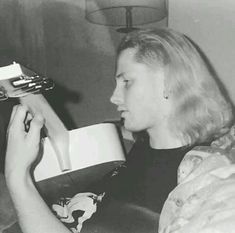
<path fill-rule="evenodd" d="M 86 19 L 94 24 L 121 26 L 127 33 L 166 17 L 165 0 L 86 0 Z M 124 27 L 123 27 L 124 26 Z"/>

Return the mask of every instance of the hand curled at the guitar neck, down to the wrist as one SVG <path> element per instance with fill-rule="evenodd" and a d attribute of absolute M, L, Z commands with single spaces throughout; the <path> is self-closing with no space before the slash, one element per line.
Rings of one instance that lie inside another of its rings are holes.
<path fill-rule="evenodd" d="M 6 177 L 24 175 L 30 171 L 40 147 L 40 131 L 44 124 L 41 115 L 29 113 L 23 105 L 14 106 L 8 126 L 5 161 Z"/>

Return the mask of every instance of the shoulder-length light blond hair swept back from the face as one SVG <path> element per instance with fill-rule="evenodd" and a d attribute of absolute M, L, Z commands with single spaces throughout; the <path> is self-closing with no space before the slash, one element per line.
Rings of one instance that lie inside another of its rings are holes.
<path fill-rule="evenodd" d="M 172 132 L 187 144 L 203 143 L 227 132 L 232 105 L 201 51 L 185 35 L 171 29 L 143 29 L 121 41 L 117 54 L 136 48 L 136 61 L 165 70 L 165 93 L 174 110 Z"/>

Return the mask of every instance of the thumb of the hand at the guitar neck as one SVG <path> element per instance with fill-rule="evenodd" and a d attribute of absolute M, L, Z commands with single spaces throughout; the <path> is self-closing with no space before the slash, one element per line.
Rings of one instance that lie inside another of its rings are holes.
<path fill-rule="evenodd" d="M 28 139 L 32 143 L 39 143 L 41 128 L 44 125 L 44 118 L 40 114 L 35 114 L 30 122 L 30 128 L 27 134 Z"/>

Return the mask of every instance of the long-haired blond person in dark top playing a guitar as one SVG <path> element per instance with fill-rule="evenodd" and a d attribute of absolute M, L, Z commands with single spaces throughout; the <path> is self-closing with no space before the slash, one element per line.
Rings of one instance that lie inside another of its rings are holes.
<path fill-rule="evenodd" d="M 124 127 L 145 131 L 147 139 L 137 140 L 126 169 L 106 187 L 100 206 L 103 216 L 108 216 L 114 200 L 131 203 L 142 212 L 160 213 L 176 186 L 184 155 L 194 145 L 209 144 L 228 131 L 231 104 L 208 67 L 193 43 L 170 29 L 138 30 L 122 40 L 111 102 L 117 105 Z M 36 114 L 26 133 L 26 113 L 25 106 L 12 113 L 5 169 L 19 222 L 26 233 L 68 232 L 33 185 L 30 167 L 38 153 L 43 119 Z M 154 231 L 156 227 L 153 224 Z"/>

